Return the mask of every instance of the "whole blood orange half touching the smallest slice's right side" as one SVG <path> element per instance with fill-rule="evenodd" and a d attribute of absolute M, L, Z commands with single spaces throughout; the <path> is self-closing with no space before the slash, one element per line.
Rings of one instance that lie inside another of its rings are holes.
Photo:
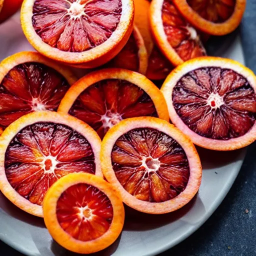
<path fill-rule="evenodd" d="M 173 124 L 155 117 L 129 118 L 109 129 L 100 162 L 123 202 L 146 213 L 182 207 L 201 182 L 201 163 L 193 143 Z"/>

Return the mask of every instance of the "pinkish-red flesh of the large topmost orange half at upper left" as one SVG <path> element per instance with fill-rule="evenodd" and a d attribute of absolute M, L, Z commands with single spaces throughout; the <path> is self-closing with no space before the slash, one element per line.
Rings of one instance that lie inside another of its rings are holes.
<path fill-rule="evenodd" d="M 121 11 L 120 0 L 35 0 L 32 24 L 50 46 L 81 52 L 111 36 Z"/>

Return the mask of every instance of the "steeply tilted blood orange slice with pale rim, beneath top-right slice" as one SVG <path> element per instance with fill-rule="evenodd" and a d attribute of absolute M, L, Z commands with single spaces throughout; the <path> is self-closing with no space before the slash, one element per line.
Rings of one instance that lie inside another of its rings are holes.
<path fill-rule="evenodd" d="M 196 30 L 182 17 L 172 0 L 152 0 L 149 17 L 156 43 L 174 66 L 206 55 Z"/>

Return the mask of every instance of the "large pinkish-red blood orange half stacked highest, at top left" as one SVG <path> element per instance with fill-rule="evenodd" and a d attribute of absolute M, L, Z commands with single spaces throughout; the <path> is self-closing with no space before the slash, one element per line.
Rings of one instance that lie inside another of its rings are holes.
<path fill-rule="evenodd" d="M 43 55 L 79 67 L 96 67 L 125 45 L 132 0 L 24 0 L 21 25 Z"/>

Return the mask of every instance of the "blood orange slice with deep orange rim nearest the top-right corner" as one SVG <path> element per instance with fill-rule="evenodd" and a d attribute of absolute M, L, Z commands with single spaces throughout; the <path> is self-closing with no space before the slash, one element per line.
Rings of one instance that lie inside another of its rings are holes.
<path fill-rule="evenodd" d="M 194 27 L 224 35 L 241 22 L 246 0 L 173 0 L 173 3 Z"/>

